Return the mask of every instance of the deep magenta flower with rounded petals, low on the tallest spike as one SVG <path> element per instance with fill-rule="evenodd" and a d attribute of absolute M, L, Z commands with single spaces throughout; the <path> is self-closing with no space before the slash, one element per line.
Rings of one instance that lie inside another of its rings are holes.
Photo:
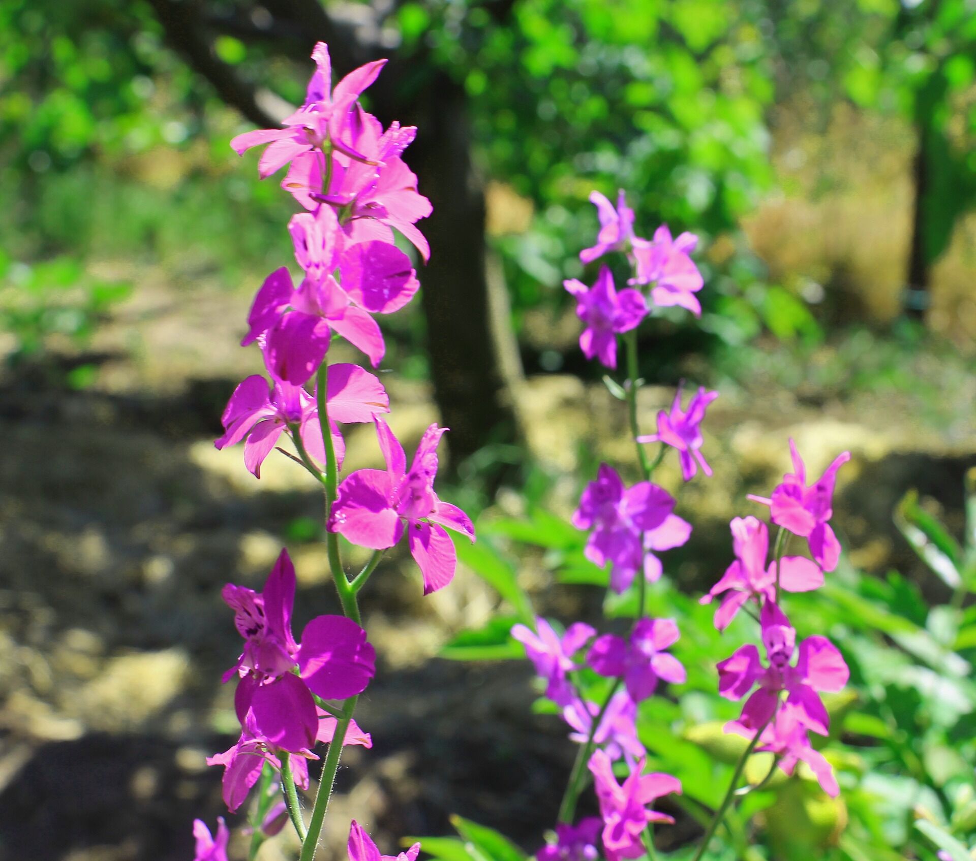
<path fill-rule="evenodd" d="M 237 664 L 224 673 L 224 682 L 240 680 L 234 707 L 241 725 L 251 713 L 254 735 L 294 753 L 310 748 L 319 724 L 312 692 L 345 699 L 362 692 L 376 673 L 376 650 L 366 632 L 346 616 L 322 615 L 305 625 L 301 646 L 295 642 L 295 567 L 287 550 L 264 592 L 227 583 L 221 594 L 244 638 Z M 292 672 L 296 667 L 299 675 Z"/>

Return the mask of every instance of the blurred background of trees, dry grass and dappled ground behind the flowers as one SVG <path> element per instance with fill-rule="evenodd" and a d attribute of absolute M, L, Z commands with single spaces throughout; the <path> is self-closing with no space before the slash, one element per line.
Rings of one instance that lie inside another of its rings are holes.
<path fill-rule="evenodd" d="M 961 530 L 976 464 L 971 0 L 6 0 L 4 859 L 189 857 L 191 819 L 222 806 L 203 759 L 236 735 L 220 587 L 259 585 L 284 542 L 299 622 L 334 609 L 302 471 L 278 457 L 258 482 L 212 445 L 261 371 L 236 344 L 291 263 L 296 209 L 228 141 L 301 102 L 316 40 L 339 74 L 390 58 L 364 101 L 419 128 L 406 159 L 432 257 L 420 300 L 383 321 L 383 379 L 408 449 L 432 420 L 452 429 L 443 498 L 487 522 L 565 514 L 600 458 L 630 463 L 561 287 L 595 276 L 578 260 L 590 191 L 623 188 L 638 234 L 700 236 L 701 321 L 641 330 L 644 427 L 680 379 L 721 392 L 715 477 L 679 503 L 696 526 L 669 568 L 682 588 L 724 569 L 728 518 L 788 467 L 793 435 L 811 470 L 854 452 L 834 521 L 852 565 L 945 597 L 891 512 L 919 489 Z M 376 456 L 351 430 L 348 462 Z M 549 584 L 538 559 L 518 576 Z M 573 751 L 530 713 L 527 667 L 438 657 L 495 594 L 463 569 L 422 601 L 396 554 L 373 584 L 376 746 L 340 775 L 333 857 L 350 815 L 385 851 L 452 812 L 534 851 Z M 579 589 L 546 594 L 586 612 Z"/>

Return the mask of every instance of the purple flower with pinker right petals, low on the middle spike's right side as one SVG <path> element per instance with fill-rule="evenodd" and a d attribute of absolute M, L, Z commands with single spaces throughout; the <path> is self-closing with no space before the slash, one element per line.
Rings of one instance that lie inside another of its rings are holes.
<path fill-rule="evenodd" d="M 590 646 L 587 663 L 600 676 L 623 679 L 630 698 L 639 703 L 654 693 L 659 679 L 673 685 L 685 681 L 684 667 L 665 651 L 678 637 L 673 619 L 640 619 L 630 642 L 616 634 L 598 637 Z"/>

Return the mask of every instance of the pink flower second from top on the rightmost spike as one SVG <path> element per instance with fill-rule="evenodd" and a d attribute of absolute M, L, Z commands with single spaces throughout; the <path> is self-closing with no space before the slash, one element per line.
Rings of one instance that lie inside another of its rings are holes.
<path fill-rule="evenodd" d="M 722 578 L 712 586 L 702 604 L 711 604 L 723 592 L 725 598 L 715 610 L 715 628 L 724 631 L 739 609 L 750 599 L 761 603 L 776 600 L 776 560 L 766 566 L 769 552 L 769 530 L 754 517 L 733 518 L 732 547 L 736 561 L 725 569 Z M 809 592 L 824 585 L 824 572 L 816 563 L 802 556 L 784 556 L 780 560 L 780 586 L 787 592 Z"/>

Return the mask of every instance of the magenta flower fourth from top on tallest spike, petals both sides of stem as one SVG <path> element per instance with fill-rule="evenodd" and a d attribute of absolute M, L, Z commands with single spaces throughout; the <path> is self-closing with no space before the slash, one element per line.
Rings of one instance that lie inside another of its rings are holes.
<path fill-rule="evenodd" d="M 383 383 L 372 373 L 358 365 L 337 364 L 329 368 L 326 403 L 332 444 L 342 466 L 346 444 L 336 422 L 372 421 L 375 413 L 389 412 L 389 398 Z M 300 386 L 275 381 L 268 395 L 264 377 L 257 373 L 249 376 L 234 389 L 221 422 L 224 436 L 214 445 L 224 449 L 244 440 L 244 464 L 259 479 L 264 458 L 292 424 L 299 426 L 308 456 L 318 463 L 325 462 L 318 407 L 315 399 Z"/>

